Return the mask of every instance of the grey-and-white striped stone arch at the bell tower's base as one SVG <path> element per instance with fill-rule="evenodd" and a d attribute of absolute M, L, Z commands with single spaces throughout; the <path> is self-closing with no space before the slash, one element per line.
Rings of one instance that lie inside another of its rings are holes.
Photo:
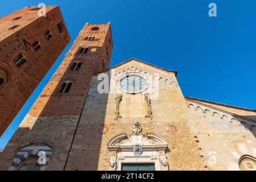
<path fill-rule="evenodd" d="M 23 162 L 23 160 L 25 160 L 26 158 L 30 156 L 35 156 L 35 155 L 39 156 L 38 155 L 39 151 L 46 152 L 46 165 L 42 165 L 40 167 L 40 170 L 45 170 L 49 162 L 49 159 L 51 158 L 51 155 L 52 155 L 52 148 L 42 142 L 38 142 L 35 144 L 31 144 L 29 146 L 20 148 L 17 154 L 15 155 L 13 163 L 11 164 L 8 170 L 15 171 L 19 167 L 19 165 Z"/>

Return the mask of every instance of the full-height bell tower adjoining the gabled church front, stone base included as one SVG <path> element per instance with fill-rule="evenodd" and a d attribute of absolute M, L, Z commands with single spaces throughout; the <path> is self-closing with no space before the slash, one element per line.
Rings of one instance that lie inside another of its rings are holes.
<path fill-rule="evenodd" d="M 90 80 L 108 69 L 112 48 L 110 23 L 85 24 L 1 154 L 0 170 L 26 169 L 20 165 L 27 156 L 20 157 L 19 152 L 27 146 L 48 147 L 44 169 L 65 168 Z"/>

